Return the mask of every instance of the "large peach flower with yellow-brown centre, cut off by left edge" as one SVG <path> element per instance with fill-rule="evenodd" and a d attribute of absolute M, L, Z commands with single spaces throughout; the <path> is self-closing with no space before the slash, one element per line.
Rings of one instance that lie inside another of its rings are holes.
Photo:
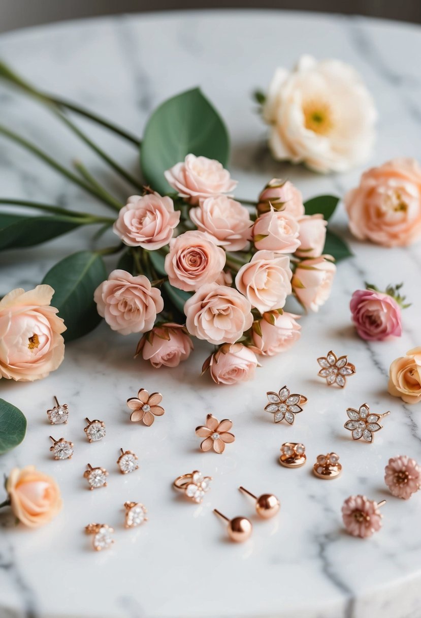
<path fill-rule="evenodd" d="M 12 290 L 0 300 L 0 378 L 32 382 L 48 376 L 64 358 L 64 321 L 50 307 L 54 290 Z"/>

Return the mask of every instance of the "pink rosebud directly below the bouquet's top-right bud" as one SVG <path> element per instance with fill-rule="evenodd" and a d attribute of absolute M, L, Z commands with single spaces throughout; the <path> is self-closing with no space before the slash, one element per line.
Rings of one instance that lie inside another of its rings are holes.
<path fill-rule="evenodd" d="M 294 253 L 299 247 L 299 225 L 297 219 L 284 210 L 273 208 L 261 214 L 252 227 L 252 238 L 256 249 Z"/>

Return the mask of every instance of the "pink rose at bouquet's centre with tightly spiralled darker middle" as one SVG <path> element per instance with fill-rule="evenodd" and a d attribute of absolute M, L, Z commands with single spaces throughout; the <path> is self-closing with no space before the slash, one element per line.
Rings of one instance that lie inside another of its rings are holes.
<path fill-rule="evenodd" d="M 225 251 L 204 232 L 185 232 L 170 242 L 165 272 L 172 286 L 191 292 L 212 283 L 225 266 Z"/>

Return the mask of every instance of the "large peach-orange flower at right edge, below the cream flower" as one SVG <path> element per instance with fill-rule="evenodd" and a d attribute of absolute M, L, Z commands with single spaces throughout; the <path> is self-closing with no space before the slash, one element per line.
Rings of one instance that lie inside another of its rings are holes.
<path fill-rule="evenodd" d="M 421 167 L 415 159 L 372 167 L 344 204 L 357 238 L 385 247 L 411 245 L 421 235 Z"/>

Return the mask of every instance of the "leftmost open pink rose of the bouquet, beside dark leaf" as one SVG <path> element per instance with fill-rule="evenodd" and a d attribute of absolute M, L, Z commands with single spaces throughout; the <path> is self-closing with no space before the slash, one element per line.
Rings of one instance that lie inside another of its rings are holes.
<path fill-rule="evenodd" d="M 159 289 L 143 274 L 133 277 L 114 270 L 96 288 L 94 301 L 99 315 L 113 331 L 122 335 L 150 331 L 157 313 L 164 308 Z"/>

